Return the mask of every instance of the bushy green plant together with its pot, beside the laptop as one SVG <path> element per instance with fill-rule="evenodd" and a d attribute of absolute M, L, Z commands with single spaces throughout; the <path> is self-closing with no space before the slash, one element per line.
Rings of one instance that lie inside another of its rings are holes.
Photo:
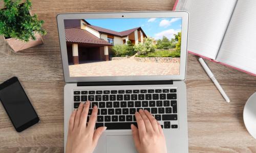
<path fill-rule="evenodd" d="M 15 52 L 42 44 L 41 35 L 46 35 L 41 27 L 44 21 L 38 20 L 30 9 L 30 0 L 4 0 L 0 10 L 0 35 Z"/>

